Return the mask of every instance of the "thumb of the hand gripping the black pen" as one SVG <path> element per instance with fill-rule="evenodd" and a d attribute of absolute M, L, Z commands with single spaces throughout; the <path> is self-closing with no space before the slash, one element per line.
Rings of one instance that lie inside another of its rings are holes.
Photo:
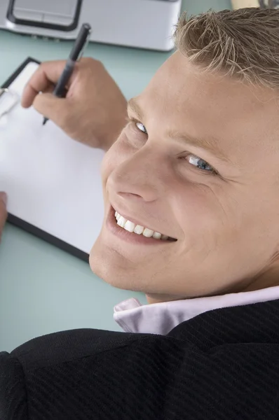
<path fill-rule="evenodd" d="M 57 98 L 51 93 L 37 94 L 33 106 L 36 111 L 61 128 L 71 119 L 72 106 L 69 106 L 69 101 Z"/>

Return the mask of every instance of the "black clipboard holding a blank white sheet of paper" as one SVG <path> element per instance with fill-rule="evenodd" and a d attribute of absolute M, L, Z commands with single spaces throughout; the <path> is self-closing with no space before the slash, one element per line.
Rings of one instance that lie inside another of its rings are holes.
<path fill-rule="evenodd" d="M 0 190 L 8 194 L 9 223 L 88 262 L 104 217 L 104 151 L 74 141 L 52 121 L 43 126 L 33 107 L 22 109 L 22 90 L 39 64 L 28 57 L 2 85 L 0 114 L 9 94 L 18 102 L 0 124 Z"/>

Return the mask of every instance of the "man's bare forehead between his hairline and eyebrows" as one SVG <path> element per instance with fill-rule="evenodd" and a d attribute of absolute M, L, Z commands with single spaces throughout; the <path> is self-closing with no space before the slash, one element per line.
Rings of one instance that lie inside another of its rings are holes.
<path fill-rule="evenodd" d="M 215 137 L 226 151 L 279 144 L 278 92 L 201 71 L 177 51 L 138 97 L 147 118 L 193 137 Z M 163 130 L 162 128 L 162 130 Z"/>

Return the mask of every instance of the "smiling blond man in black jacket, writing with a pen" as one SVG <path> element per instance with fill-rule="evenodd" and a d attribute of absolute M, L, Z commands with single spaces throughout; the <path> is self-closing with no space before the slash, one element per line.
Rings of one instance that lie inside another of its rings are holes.
<path fill-rule="evenodd" d="M 107 151 L 90 266 L 149 305 L 116 307 L 126 334 L 1 353 L 4 420 L 278 418 L 279 11 L 183 16 L 176 41 L 124 128 L 125 99 L 91 59 L 66 99 L 38 94 L 63 62 L 25 89 L 23 106 Z"/>

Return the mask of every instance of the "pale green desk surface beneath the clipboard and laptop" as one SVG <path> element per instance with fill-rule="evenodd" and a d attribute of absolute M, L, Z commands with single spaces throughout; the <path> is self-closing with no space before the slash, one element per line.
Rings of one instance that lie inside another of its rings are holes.
<path fill-rule="evenodd" d="M 229 0 L 203 0 L 183 8 L 200 13 L 230 8 Z M 43 41 L 0 31 L 0 84 L 27 56 L 40 61 L 67 58 L 71 41 Z M 86 56 L 100 59 L 125 97 L 139 94 L 171 52 L 90 44 Z M 7 223 L 0 246 L 0 351 L 29 339 L 73 328 L 120 331 L 113 308 L 143 293 L 113 288 L 95 276 L 86 262 Z"/>

